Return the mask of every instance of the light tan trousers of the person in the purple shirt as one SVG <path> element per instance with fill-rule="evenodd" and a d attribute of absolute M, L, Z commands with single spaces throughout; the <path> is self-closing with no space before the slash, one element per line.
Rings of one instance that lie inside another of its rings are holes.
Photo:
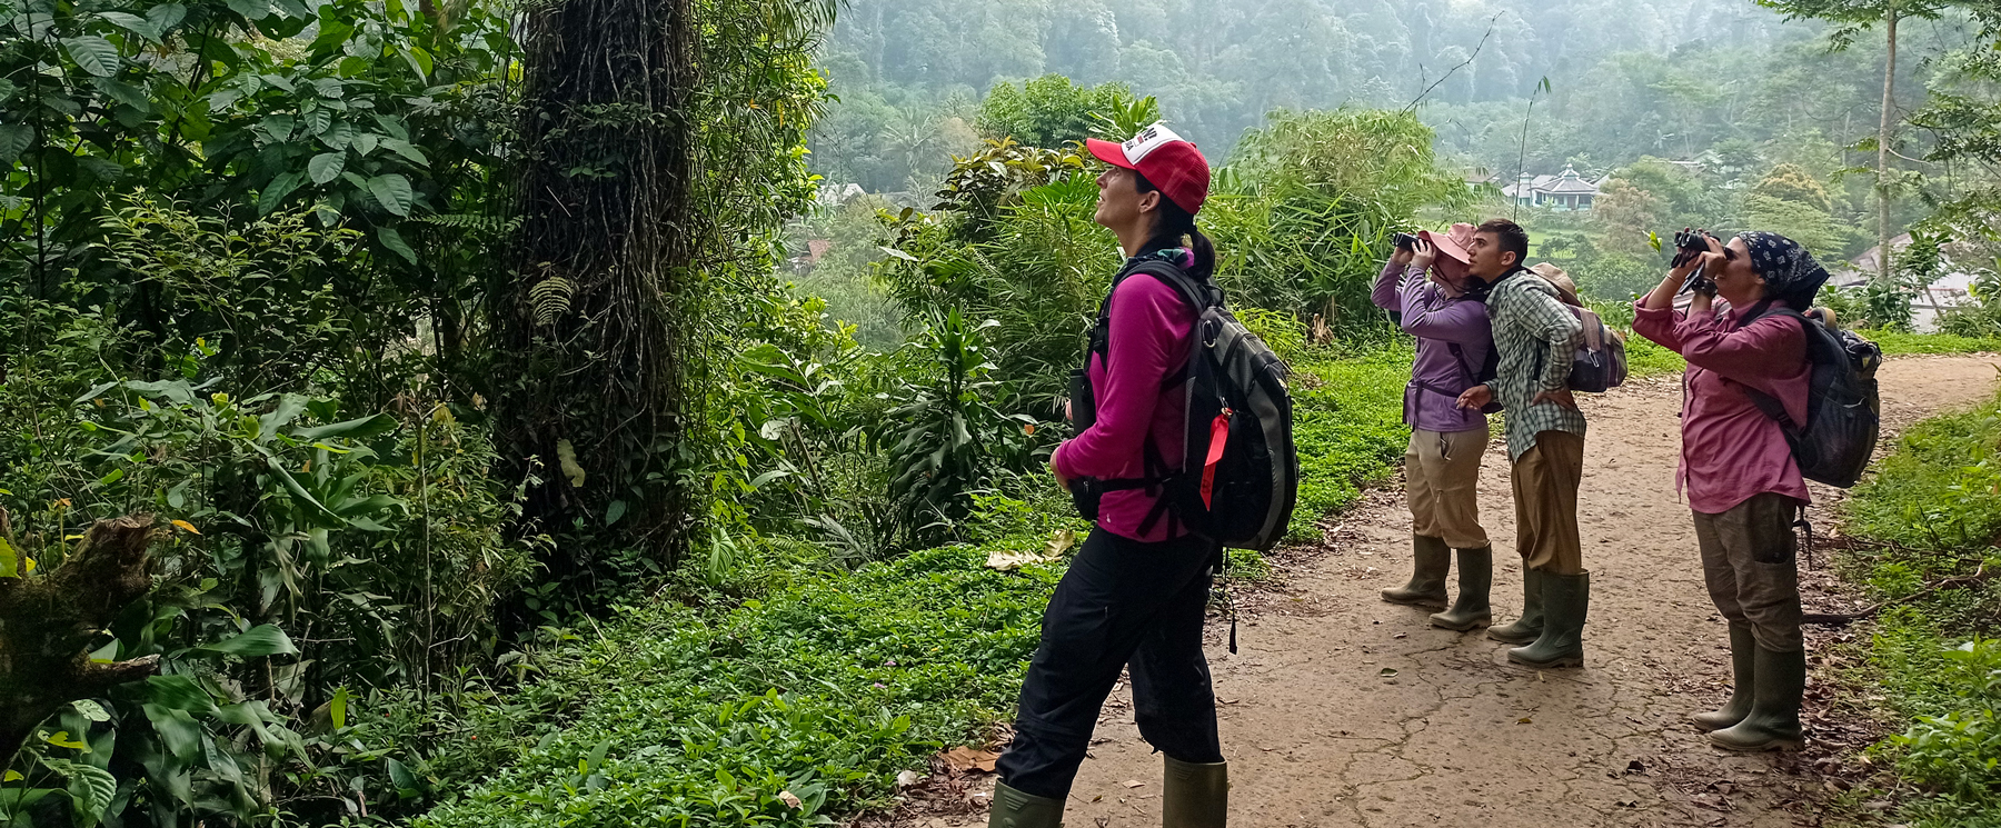
<path fill-rule="evenodd" d="M 1481 454 L 1487 430 L 1411 430 L 1403 450 L 1403 490 L 1411 502 L 1411 532 L 1445 538 L 1455 550 L 1487 546 L 1481 528 Z"/>

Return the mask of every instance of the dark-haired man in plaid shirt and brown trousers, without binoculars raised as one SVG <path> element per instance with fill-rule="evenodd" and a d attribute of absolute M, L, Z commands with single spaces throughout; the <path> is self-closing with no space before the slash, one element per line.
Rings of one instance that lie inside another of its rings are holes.
<path fill-rule="evenodd" d="M 1529 234 L 1521 224 L 1505 218 L 1481 224 L 1467 252 L 1473 276 L 1493 286 L 1487 316 L 1501 364 L 1489 386 L 1461 396 L 1461 406 L 1501 400 L 1507 410 L 1515 550 L 1523 562 L 1521 618 L 1489 628 L 1487 636 L 1523 644 L 1507 654 L 1515 664 L 1583 666 L 1585 610 L 1591 604 L 1591 574 L 1585 572 L 1577 536 L 1585 414 L 1569 390 L 1583 324 L 1549 280 L 1523 270 Z"/>

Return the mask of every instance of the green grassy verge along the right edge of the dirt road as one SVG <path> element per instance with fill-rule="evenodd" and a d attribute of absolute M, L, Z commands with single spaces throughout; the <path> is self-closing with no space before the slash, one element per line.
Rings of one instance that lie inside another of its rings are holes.
<path fill-rule="evenodd" d="M 1885 350 L 1889 350 L 1885 346 Z M 2001 570 L 2001 400 L 1903 434 L 1843 506 L 1847 534 L 1891 544 L 1849 552 L 1843 576 L 1873 600 L 1867 680 L 1909 724 L 1871 748 L 1895 766 L 1911 826 L 2001 826 L 2001 584 L 1927 590 Z"/>

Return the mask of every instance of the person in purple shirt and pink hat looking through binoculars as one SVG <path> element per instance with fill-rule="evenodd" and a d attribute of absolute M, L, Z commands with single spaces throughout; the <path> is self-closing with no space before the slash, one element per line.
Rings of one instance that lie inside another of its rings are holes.
<path fill-rule="evenodd" d="M 1481 384 L 1479 372 L 1495 346 L 1487 306 L 1465 296 L 1471 240 L 1471 224 L 1453 224 L 1445 236 L 1419 234 L 1415 246 L 1391 256 L 1371 294 L 1379 308 L 1403 314 L 1403 332 L 1417 338 L 1417 362 L 1403 390 L 1403 422 L 1411 426 L 1403 478 L 1415 564 L 1411 582 L 1383 590 L 1383 600 L 1445 610 L 1445 576 L 1459 550 L 1459 600 L 1431 616 L 1433 626 L 1447 630 L 1493 622 L 1487 596 L 1495 556 L 1479 510 L 1487 416 L 1459 408 L 1459 394 Z"/>

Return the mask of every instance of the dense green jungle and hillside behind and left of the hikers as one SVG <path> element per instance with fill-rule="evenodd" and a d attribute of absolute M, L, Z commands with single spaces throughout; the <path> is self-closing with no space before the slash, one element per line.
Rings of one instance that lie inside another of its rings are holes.
<path fill-rule="evenodd" d="M 1007 716 L 1083 528 L 1043 474 L 1117 266 L 1083 136 L 1211 152 L 1295 538 L 1401 456 L 1369 280 L 1511 210 L 1469 176 L 1611 174 L 1519 210 L 1599 300 L 1645 232 L 1841 258 L 1889 206 L 1915 254 L 1831 300 L 1895 328 L 1993 246 L 1985 6 L 0 6 L 10 826 L 882 804 Z"/>

